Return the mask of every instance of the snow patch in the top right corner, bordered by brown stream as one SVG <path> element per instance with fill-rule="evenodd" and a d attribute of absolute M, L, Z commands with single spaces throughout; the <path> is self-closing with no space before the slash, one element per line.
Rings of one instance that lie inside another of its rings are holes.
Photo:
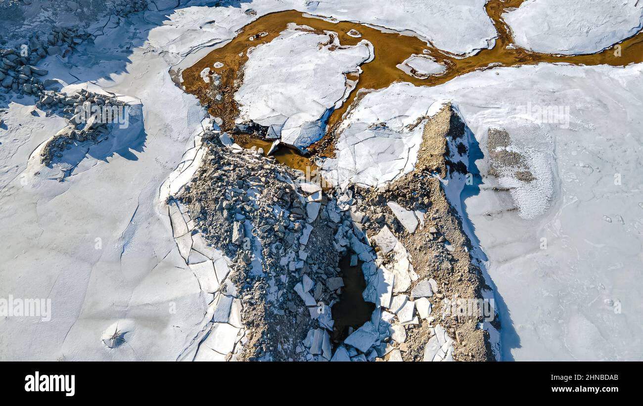
<path fill-rule="evenodd" d="M 516 45 L 544 53 L 595 53 L 643 28 L 638 0 L 527 0 L 503 14 Z"/>

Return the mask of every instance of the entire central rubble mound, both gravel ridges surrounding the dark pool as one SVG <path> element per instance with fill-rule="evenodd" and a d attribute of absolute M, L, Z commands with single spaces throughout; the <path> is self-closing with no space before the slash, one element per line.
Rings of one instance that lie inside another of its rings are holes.
<path fill-rule="evenodd" d="M 322 190 L 227 134 L 204 134 L 203 162 L 174 199 L 189 214 L 185 233 L 203 236 L 230 258 L 221 287 L 234 292 L 228 296 L 239 301 L 244 327 L 228 335 L 237 343 L 226 346 L 228 359 L 493 358 L 479 317 L 439 313 L 445 297 L 480 297 L 483 284 L 457 212 L 435 177 L 458 162 L 458 155 L 445 162 L 452 155 L 445 133 L 453 139 L 464 130 L 449 125 L 452 114 L 447 106 L 425 130 L 425 144 L 442 134 L 436 161 L 426 155 L 415 171 L 377 190 L 354 184 Z M 341 301 L 344 256 L 352 266 L 361 263 L 363 299 L 376 308 L 345 340 L 332 342 L 331 308 Z M 210 351 L 212 339 L 201 345 Z"/>

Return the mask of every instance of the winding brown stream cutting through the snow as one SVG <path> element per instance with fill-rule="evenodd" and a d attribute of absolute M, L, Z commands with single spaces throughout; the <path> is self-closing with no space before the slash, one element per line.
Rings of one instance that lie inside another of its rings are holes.
<path fill-rule="evenodd" d="M 194 66 L 185 69 L 182 73 L 183 85 L 188 93 L 194 94 L 201 100 L 201 103 L 208 105 L 208 111 L 212 116 L 221 117 L 224 120 L 222 125 L 224 130 L 231 130 L 234 126 L 234 120 L 239 114 L 233 94 L 243 79 L 242 67 L 248 60 L 248 48 L 258 44 L 265 44 L 275 39 L 279 33 L 287 28 L 289 22 L 309 26 L 315 31 L 333 31 L 337 33 L 340 43 L 343 45 L 354 45 L 362 39 L 370 41 L 375 48 L 374 60 L 361 66 L 363 73 L 359 75 L 358 85 L 350 94 L 347 102 L 343 103 L 340 109 L 335 110 L 329 118 L 327 136 L 309 148 L 312 154 L 323 157 L 334 154 L 334 130 L 345 112 L 355 101 L 360 89 L 383 89 L 394 82 L 410 82 L 418 86 L 435 86 L 444 84 L 456 76 L 464 75 L 476 69 L 486 69 L 492 64 L 493 66 L 518 66 L 538 64 L 539 62 L 565 62 L 575 65 L 608 64 L 626 66 L 633 62 L 642 62 L 643 34 L 641 32 L 620 42 L 620 53 L 616 53 L 615 49 L 610 48 L 592 55 L 563 56 L 529 52 L 524 49 L 507 49 L 507 45 L 511 44 L 512 40 L 511 33 L 509 33 L 502 20 L 502 13 L 508 8 L 520 6 L 523 1 L 490 0 L 485 5 L 485 9 L 489 17 L 491 17 L 496 31 L 498 31 L 496 44 L 492 49 L 484 49 L 476 55 L 466 58 L 453 57 L 440 49 L 429 46 L 418 37 L 383 32 L 355 22 L 341 21 L 334 24 L 321 19 L 304 17 L 301 12 L 294 10 L 271 13 L 251 22 L 242 28 L 239 35 L 231 40 L 230 43 L 214 49 Z M 347 34 L 350 30 L 359 31 L 362 37 L 359 39 L 350 37 Z M 266 35 L 250 40 L 252 36 L 258 33 L 266 33 Z M 397 64 L 401 64 L 411 55 L 421 55 L 425 50 L 437 62 L 447 66 L 443 75 L 418 79 L 407 75 L 396 67 Z M 213 67 L 215 62 L 222 62 L 224 66 L 215 69 Z M 210 67 L 210 73 L 221 75 L 221 84 L 219 86 L 214 87 L 212 83 L 206 84 L 203 81 L 200 73 L 204 67 Z M 223 96 L 221 102 L 214 100 L 214 97 L 219 93 Z M 250 145 L 259 145 L 259 142 L 249 141 L 249 143 L 242 143 L 242 145 L 248 147 Z M 266 152 L 268 149 L 264 148 Z M 294 150 L 284 150 L 281 154 L 278 161 L 289 164 L 293 168 L 302 169 L 302 164 L 310 163 L 307 159 L 303 161 L 298 159 L 297 157 L 301 158 L 301 156 Z"/>

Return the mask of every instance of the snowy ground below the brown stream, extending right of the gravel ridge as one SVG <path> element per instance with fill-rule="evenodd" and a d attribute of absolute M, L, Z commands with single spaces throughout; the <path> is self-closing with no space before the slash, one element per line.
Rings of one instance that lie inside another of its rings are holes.
<path fill-rule="evenodd" d="M 642 70 L 540 64 L 431 88 L 394 84 L 361 100 L 338 159 L 327 164 L 338 166 L 340 182 L 375 184 L 406 172 L 397 163 L 415 159 L 404 146 L 417 134 L 401 128 L 435 101 L 453 100 L 480 144 L 469 146 L 478 155 L 469 171 L 484 178 L 464 190 L 462 209 L 497 288 L 503 359 L 640 359 Z M 404 121 L 386 106 L 401 109 Z M 562 113 L 550 114 L 554 108 Z M 387 127 L 368 128 L 379 121 Z M 489 128 L 507 130 L 510 148 L 529 157 L 533 181 L 486 175 Z"/>

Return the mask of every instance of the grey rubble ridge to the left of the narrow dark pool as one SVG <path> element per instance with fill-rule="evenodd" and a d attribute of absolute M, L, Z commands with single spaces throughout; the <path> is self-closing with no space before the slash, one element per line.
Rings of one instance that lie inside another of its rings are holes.
<path fill-rule="evenodd" d="M 333 235 L 342 216 L 332 194 L 300 182 L 300 173 L 206 134 L 208 153 L 180 202 L 195 230 L 231 258 L 228 278 L 247 327 L 239 359 L 331 358 L 303 342 L 323 330 L 329 344 L 331 306 L 343 285 Z M 196 231 L 195 231 L 196 232 Z"/>

